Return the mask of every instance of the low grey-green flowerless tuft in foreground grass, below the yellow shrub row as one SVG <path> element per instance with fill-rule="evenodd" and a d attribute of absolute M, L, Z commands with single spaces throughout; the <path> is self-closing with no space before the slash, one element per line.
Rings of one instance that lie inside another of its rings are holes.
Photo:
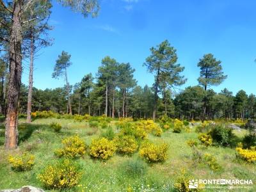
<path fill-rule="evenodd" d="M 129 177 L 141 177 L 147 173 L 147 164 L 140 159 L 131 159 L 122 163 L 119 170 Z"/>

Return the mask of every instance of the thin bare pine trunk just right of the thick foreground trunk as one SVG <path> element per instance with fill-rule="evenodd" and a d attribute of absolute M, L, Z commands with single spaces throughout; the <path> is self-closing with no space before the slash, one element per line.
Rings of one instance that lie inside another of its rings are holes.
<path fill-rule="evenodd" d="M 30 43 L 30 66 L 29 66 L 28 108 L 27 108 L 27 122 L 28 123 L 31 123 L 33 68 L 34 68 L 34 38 L 33 38 L 33 34 L 32 34 L 31 35 L 31 43 Z"/>

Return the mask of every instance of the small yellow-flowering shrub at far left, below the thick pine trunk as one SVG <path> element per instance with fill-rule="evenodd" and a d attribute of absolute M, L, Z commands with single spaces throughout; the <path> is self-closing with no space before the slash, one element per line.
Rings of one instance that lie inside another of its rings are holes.
<path fill-rule="evenodd" d="M 35 156 L 24 153 L 17 156 L 9 156 L 9 163 L 12 165 L 12 169 L 17 172 L 31 170 L 35 164 Z"/>

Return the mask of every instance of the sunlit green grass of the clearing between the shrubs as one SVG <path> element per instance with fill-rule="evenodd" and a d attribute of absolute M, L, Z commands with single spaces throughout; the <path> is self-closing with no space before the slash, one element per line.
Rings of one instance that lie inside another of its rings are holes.
<path fill-rule="evenodd" d="M 45 165 L 56 161 L 54 150 L 61 147 L 61 140 L 67 136 L 79 134 L 86 145 L 90 145 L 92 138 L 98 137 L 106 129 L 89 127 L 88 122 L 75 122 L 65 119 L 36 119 L 31 124 L 19 123 L 19 148 L 12 152 L 4 150 L 4 126 L 0 126 L 0 189 L 16 189 L 21 186 L 31 185 L 43 188 L 36 179 Z M 62 125 L 60 133 L 54 132 L 49 125 L 58 122 Z M 115 122 L 111 122 L 113 131 L 117 132 Z M 241 140 L 246 131 L 235 132 Z M 175 191 L 173 183 L 182 168 L 188 170 L 195 179 L 252 179 L 256 182 L 255 164 L 243 163 L 236 160 L 236 150 L 228 147 L 200 147 L 202 153 L 214 155 L 220 163 L 222 170 L 212 172 L 203 163 L 193 161 L 192 150 L 186 144 L 189 139 L 197 140 L 198 134 L 191 132 L 173 133 L 168 130 L 161 138 L 150 135 L 150 141 L 168 143 L 169 155 L 164 163 L 147 164 L 141 162 L 138 152 L 132 156 L 116 154 L 108 161 L 91 159 L 88 155 L 77 159 L 83 167 L 81 186 L 69 191 L 126 191 L 131 186 L 134 191 Z M 35 166 L 28 172 L 13 172 L 8 164 L 8 155 L 29 151 L 36 157 Z M 129 171 L 127 171 L 127 169 Z M 125 171 L 126 170 L 126 171 Z M 256 191 L 253 185 L 252 191 Z"/>

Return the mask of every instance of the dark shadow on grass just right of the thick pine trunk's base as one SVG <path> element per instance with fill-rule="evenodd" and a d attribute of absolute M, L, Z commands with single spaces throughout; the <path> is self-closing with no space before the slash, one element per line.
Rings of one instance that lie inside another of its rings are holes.
<path fill-rule="evenodd" d="M 44 124 L 20 124 L 18 126 L 19 130 L 19 140 L 18 140 L 18 145 L 21 141 L 26 141 L 28 140 L 33 132 L 37 131 L 40 132 L 42 130 L 49 129 L 49 125 L 44 125 Z"/>

